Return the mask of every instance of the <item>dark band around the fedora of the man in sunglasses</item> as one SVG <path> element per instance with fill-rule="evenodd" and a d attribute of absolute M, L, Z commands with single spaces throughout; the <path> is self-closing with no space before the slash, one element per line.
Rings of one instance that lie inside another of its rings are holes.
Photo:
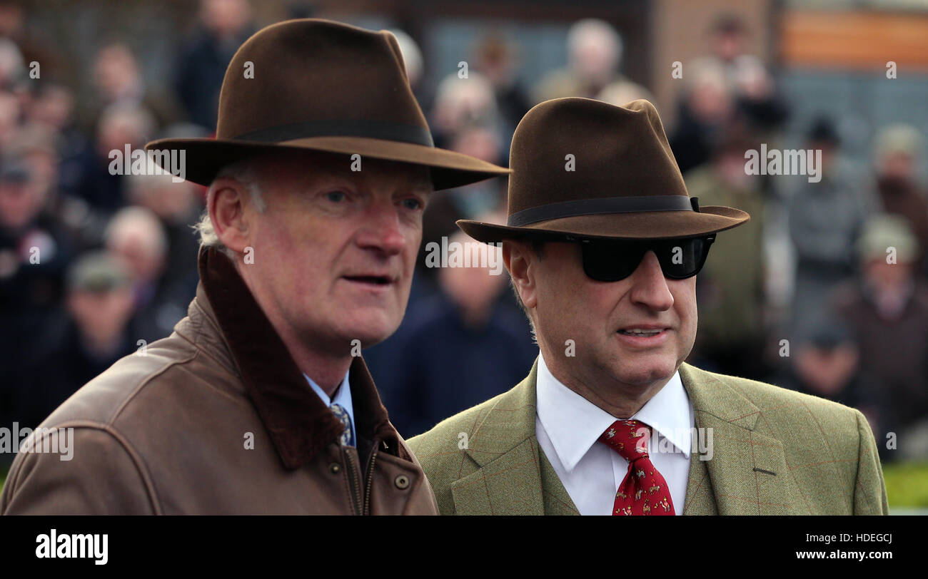
<path fill-rule="evenodd" d="M 538 221 L 557 220 L 563 217 L 640 211 L 699 211 L 699 202 L 696 197 L 686 195 L 638 195 L 562 201 L 516 211 L 509 216 L 506 224 L 509 227 L 523 227 Z"/>

